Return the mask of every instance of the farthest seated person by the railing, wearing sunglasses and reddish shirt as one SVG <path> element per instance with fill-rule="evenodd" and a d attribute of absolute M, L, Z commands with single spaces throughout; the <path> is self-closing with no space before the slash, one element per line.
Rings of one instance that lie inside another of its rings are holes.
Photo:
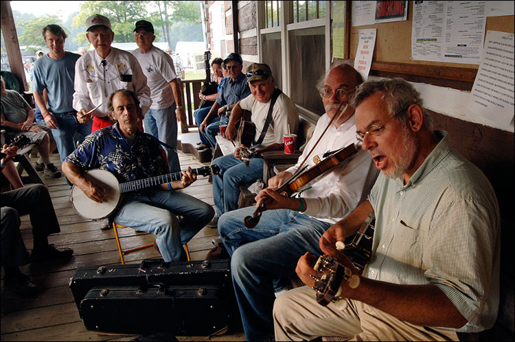
<path fill-rule="evenodd" d="M 227 77 L 227 68 L 225 67 L 225 63 L 223 62 L 222 58 L 214 58 L 211 62 L 211 69 L 213 69 L 213 76 L 214 80 L 211 80 L 211 82 L 216 82 L 218 84 L 218 88 L 216 89 L 215 94 L 211 95 L 204 95 L 203 93 L 198 93 L 198 98 L 200 98 L 202 101 L 216 101 L 216 98 L 218 97 L 218 94 L 220 94 L 220 90 L 222 90 L 223 82 L 225 81 L 225 77 Z M 207 132 L 203 133 L 200 130 L 201 123 L 203 123 L 205 117 L 209 113 L 209 110 L 211 110 L 211 106 L 198 108 L 195 110 L 195 122 L 198 125 L 198 135 L 201 136 L 201 143 L 197 147 L 197 149 L 207 149 L 211 147 L 211 144 L 205 137 L 205 134 Z M 218 116 L 217 116 L 218 118 Z M 211 123 L 213 123 L 216 119 L 213 117 L 211 121 L 207 122 L 207 126 L 209 126 Z M 218 122 L 218 120 L 216 120 Z"/>

